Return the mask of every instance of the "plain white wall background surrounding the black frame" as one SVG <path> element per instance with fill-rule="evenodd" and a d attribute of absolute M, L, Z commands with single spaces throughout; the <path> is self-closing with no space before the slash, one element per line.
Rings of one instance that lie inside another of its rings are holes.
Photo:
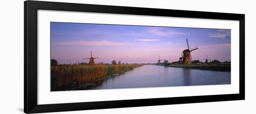
<path fill-rule="evenodd" d="M 245 14 L 245 99 L 150 107 L 129 107 L 51 114 L 256 114 L 256 13 L 253 0 L 49 0 L 130 7 Z M 23 113 L 23 0 L 4 0 L 0 6 L 0 114 Z"/>

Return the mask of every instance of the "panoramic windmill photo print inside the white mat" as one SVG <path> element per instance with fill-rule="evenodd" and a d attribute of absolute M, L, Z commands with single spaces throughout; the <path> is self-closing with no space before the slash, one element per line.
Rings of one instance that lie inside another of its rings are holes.
<path fill-rule="evenodd" d="M 231 84 L 231 30 L 51 22 L 51 91 Z"/>

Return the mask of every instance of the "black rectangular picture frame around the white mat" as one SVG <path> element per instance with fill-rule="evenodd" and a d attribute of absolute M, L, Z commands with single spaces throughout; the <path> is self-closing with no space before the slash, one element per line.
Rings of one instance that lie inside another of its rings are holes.
<path fill-rule="evenodd" d="M 185 18 L 202 18 L 218 20 L 239 20 L 239 94 L 220 94 L 186 97 L 169 97 L 154 99 L 134 99 L 120 101 L 94 101 L 61 104 L 37 104 L 37 10 L 60 10 L 93 13 L 116 13 Z M 61 3 L 47 1 L 24 2 L 24 113 L 47 113 L 103 108 L 141 107 L 170 105 L 182 103 L 198 103 L 213 101 L 234 101 L 245 99 L 245 15 L 235 13 L 199 12 L 171 9 L 155 9 L 141 7 L 119 7 L 105 5 L 89 5 L 77 3 Z"/>

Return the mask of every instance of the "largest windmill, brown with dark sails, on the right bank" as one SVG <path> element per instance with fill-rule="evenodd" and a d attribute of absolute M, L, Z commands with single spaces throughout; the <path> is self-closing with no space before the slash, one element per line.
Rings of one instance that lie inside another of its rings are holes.
<path fill-rule="evenodd" d="M 194 47 L 192 49 L 189 48 L 189 41 L 187 40 L 187 47 L 188 49 L 185 49 L 182 51 L 182 64 L 191 64 L 192 62 L 192 57 L 191 57 L 191 52 L 198 49 L 198 47 Z"/>

